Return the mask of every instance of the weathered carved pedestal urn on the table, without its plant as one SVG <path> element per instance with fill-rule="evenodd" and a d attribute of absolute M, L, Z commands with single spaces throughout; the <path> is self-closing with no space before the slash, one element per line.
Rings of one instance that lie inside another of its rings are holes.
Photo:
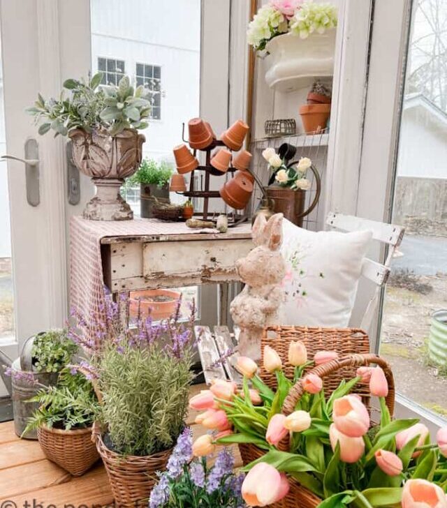
<path fill-rule="evenodd" d="M 80 128 L 71 130 L 68 136 L 73 142 L 73 162 L 96 186 L 96 195 L 82 216 L 90 221 L 132 219 L 133 211 L 119 194 L 119 188 L 138 169 L 145 136 L 133 129 L 111 136 L 105 130 L 88 133 Z"/>

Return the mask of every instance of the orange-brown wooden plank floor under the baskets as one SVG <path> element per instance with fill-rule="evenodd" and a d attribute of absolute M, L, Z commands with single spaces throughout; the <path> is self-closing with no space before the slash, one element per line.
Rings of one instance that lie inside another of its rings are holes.
<path fill-rule="evenodd" d="M 195 394 L 204 385 L 191 388 Z M 189 412 L 186 424 L 194 437 L 206 429 L 194 424 L 196 412 Z M 236 466 L 240 466 L 237 447 L 234 448 Z M 6 503 L 9 501 L 9 503 Z M 50 508 L 71 505 L 70 508 L 112 505 L 107 475 L 98 463 L 82 477 L 72 477 L 59 466 L 47 461 L 37 441 L 20 440 L 14 433 L 12 421 L 0 424 L 0 507 Z M 40 505 L 40 506 L 38 506 Z M 68 508 L 68 507 L 67 507 Z"/>

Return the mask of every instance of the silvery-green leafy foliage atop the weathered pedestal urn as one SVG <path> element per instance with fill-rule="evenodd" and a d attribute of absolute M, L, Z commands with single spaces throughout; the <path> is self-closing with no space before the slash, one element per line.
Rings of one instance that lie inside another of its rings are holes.
<path fill-rule="evenodd" d="M 64 89 L 71 95 L 64 97 L 64 90 L 59 100 L 45 100 L 38 94 L 36 103 L 27 112 L 36 117 L 36 124 L 41 124 L 39 134 L 50 129 L 57 135 L 66 136 L 74 128 L 91 132 L 95 129 L 107 130 L 112 136 L 125 128 L 144 129 L 148 124 L 153 98 L 159 90 L 148 90 L 145 87 L 133 89 L 128 76 L 122 77 L 118 86 L 101 85 L 102 73 L 97 73 L 87 82 L 83 79 L 69 79 L 64 82 Z"/>

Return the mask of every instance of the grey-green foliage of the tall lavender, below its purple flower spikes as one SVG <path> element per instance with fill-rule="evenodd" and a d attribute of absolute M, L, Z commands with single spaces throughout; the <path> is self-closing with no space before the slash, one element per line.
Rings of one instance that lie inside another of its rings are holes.
<path fill-rule="evenodd" d="M 105 348 L 100 419 L 116 451 L 147 456 L 173 446 L 186 417 L 191 359 L 191 352 L 176 357 L 155 344 Z"/>

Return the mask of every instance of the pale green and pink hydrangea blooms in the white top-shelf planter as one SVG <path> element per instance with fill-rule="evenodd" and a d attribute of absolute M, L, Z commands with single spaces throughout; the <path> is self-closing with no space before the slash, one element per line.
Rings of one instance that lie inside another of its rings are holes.
<path fill-rule="evenodd" d="M 305 39 L 333 27 L 337 27 L 337 8 L 332 3 L 270 0 L 250 22 L 247 40 L 255 50 L 262 51 L 269 40 L 284 33 Z"/>

